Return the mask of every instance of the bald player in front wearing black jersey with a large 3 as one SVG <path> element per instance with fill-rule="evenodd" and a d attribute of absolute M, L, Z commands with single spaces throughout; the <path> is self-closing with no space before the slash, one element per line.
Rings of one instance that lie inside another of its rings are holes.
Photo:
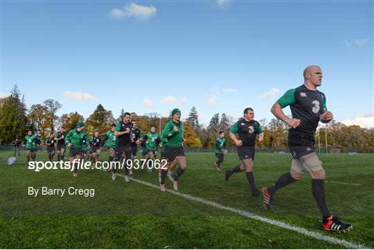
<path fill-rule="evenodd" d="M 341 222 L 338 217 L 331 215 L 326 203 L 325 170 L 314 152 L 314 133 L 319 121 L 328 123 L 333 119 L 332 113 L 326 107 L 325 94 L 317 90 L 322 82 L 321 68 L 308 66 L 303 76 L 303 85 L 287 91 L 271 107 L 274 116 L 291 127 L 288 134 L 288 146 L 294 159 L 290 172 L 281 175 L 273 186 L 262 188 L 263 204 L 269 211 L 276 191 L 294 181 L 301 180 L 303 171 L 306 170 L 312 176 L 312 193 L 322 214 L 323 228 L 328 231 L 346 232 L 352 229 L 352 224 Z M 282 111 L 287 106 L 291 108 L 292 118 Z"/>

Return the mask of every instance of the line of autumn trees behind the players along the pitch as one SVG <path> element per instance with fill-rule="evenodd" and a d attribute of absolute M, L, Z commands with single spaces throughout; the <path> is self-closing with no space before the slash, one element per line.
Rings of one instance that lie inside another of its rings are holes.
<path fill-rule="evenodd" d="M 62 105 L 57 100 L 47 99 L 43 104 L 35 104 L 27 109 L 24 96 L 15 85 L 10 96 L 0 99 L 0 140 L 1 143 L 12 143 L 15 139 L 23 139 L 26 130 L 39 131 L 43 139 L 64 126 L 67 131 L 75 129 L 79 122 L 86 124 L 86 131 L 89 136 L 98 131 L 105 134 L 113 123 L 122 119 L 125 113 L 114 118 L 112 111 L 105 109 L 99 104 L 93 113 L 84 118 L 78 112 L 62 114 L 57 116 L 57 111 Z M 168 123 L 168 117 L 162 117 L 157 113 L 136 114 L 132 113 L 132 119 L 137 121 L 140 130 L 149 132 L 151 127 L 156 127 L 157 132 L 162 131 Z M 215 138 L 220 131 L 229 137 L 229 131 L 236 120 L 226 114 L 214 114 L 208 125 L 199 123 L 197 109 L 192 107 L 186 120 L 184 120 L 184 137 L 188 147 L 211 148 Z M 283 121 L 276 118 L 269 122 L 265 118 L 258 120 L 265 133 L 265 141 L 256 142 L 256 148 L 268 151 L 287 150 L 288 127 Z M 327 134 L 326 134 L 327 131 Z M 327 148 L 326 148 L 327 142 Z M 227 145 L 234 147 L 231 139 Z M 357 125 L 344 125 L 332 120 L 326 127 L 321 127 L 316 133 L 316 148 L 321 145 L 323 152 L 331 149 L 339 149 L 341 152 L 373 152 L 374 149 L 374 128 L 362 128 Z"/>

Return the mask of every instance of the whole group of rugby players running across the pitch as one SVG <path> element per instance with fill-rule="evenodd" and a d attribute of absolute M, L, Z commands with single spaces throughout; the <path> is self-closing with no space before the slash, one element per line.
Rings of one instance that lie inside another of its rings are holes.
<path fill-rule="evenodd" d="M 317 87 L 321 86 L 323 78 L 321 68 L 308 66 L 303 72 L 303 78 L 304 83 L 300 87 L 288 90 L 271 107 L 272 114 L 290 126 L 288 145 L 293 158 L 290 171 L 281 175 L 271 186 L 261 189 L 256 187 L 253 175 L 255 143 L 256 139 L 260 142 L 264 140 L 264 133 L 260 123 L 254 120 L 253 109 L 246 108 L 243 112 L 244 117 L 231 127 L 229 133 L 230 139 L 237 146 L 240 164 L 226 170 L 224 180 L 229 181 L 231 175 L 245 172 L 251 194 L 261 197 L 266 210 L 269 211 L 278 190 L 301 180 L 303 172 L 309 172 L 312 177 L 312 194 L 321 211 L 323 228 L 328 231 L 350 231 L 353 228 L 352 224 L 342 222 L 328 209 L 324 188 L 326 172 L 314 150 L 314 134 L 319 122 L 328 123 L 333 119 L 332 113 L 326 107 L 326 96 L 317 90 Z M 283 113 L 283 109 L 287 106 L 290 106 L 292 118 Z M 35 161 L 40 142 L 39 134 L 28 131 L 24 139 L 28 161 Z M 178 180 L 184 175 L 187 168 L 183 143 L 184 127 L 179 109 L 172 110 L 172 118 L 166 123 L 161 134 L 157 134 L 156 128 L 152 127 L 150 132 L 143 135 L 141 130 L 136 127 L 136 120 L 132 120 L 131 114 L 127 112 L 124 114 L 123 120 L 113 124 L 111 129 L 105 133 L 103 140 L 100 132 L 96 132 L 94 137 L 89 139 L 84 132 L 84 123 L 78 123 L 77 128 L 68 134 L 62 127 L 59 132 L 51 134 L 45 141 L 50 160 L 55 155 L 55 146 L 58 161 L 64 160 L 66 146 L 69 147 L 69 161 L 74 168 L 74 177 L 78 177 L 77 163 L 74 163 L 74 159 L 79 160 L 90 156 L 91 160 L 96 162 L 103 147 L 107 148 L 109 163 L 124 163 L 124 176 L 127 183 L 133 177 L 132 162 L 136 159 L 139 147 L 142 148 L 142 159 L 148 156 L 146 161 L 154 161 L 157 157 L 157 148 L 160 147 L 160 159 L 165 162 L 163 168 L 159 168 L 159 189 L 161 191 L 166 191 L 166 177 L 172 181 L 174 190 L 178 190 Z M 217 161 L 213 163 L 215 169 L 221 169 L 226 153 L 226 138 L 224 132 L 221 131 L 215 140 L 215 155 L 217 157 Z M 179 168 L 173 171 L 177 165 Z M 116 180 L 118 165 L 112 164 L 112 166 L 114 166 L 112 179 Z M 148 168 L 148 170 L 152 170 L 152 168 Z"/>

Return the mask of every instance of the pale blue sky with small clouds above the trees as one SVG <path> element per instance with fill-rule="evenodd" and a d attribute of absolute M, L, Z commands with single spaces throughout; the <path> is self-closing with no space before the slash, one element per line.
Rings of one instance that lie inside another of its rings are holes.
<path fill-rule="evenodd" d="M 337 121 L 374 126 L 373 1 L 1 1 L 1 95 L 59 114 L 270 120 L 310 64 Z"/>

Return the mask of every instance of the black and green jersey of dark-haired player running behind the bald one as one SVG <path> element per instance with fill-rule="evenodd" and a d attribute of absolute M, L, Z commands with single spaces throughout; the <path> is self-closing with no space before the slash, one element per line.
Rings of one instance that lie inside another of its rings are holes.
<path fill-rule="evenodd" d="M 238 134 L 239 140 L 242 141 L 244 146 L 254 147 L 256 136 L 262 133 L 262 128 L 257 120 L 247 121 L 243 118 L 231 127 L 230 132 Z"/>

